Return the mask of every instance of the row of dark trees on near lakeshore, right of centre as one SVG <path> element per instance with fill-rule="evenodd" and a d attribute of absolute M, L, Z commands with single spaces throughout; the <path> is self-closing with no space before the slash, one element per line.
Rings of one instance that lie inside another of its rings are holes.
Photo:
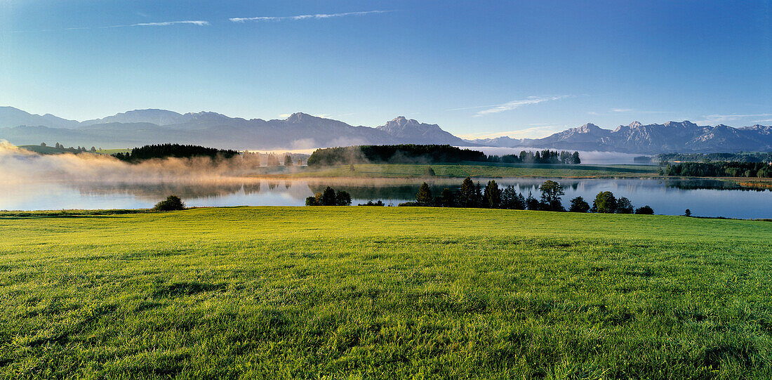
<path fill-rule="evenodd" d="M 514 209 L 557 212 L 598 212 L 618 214 L 653 214 L 648 205 L 635 209 L 628 198 L 616 198 L 612 192 L 599 192 L 590 206 L 581 196 L 571 199 L 571 206 L 565 209 L 561 198 L 565 195 L 563 186 L 558 182 L 545 181 L 539 186 L 540 198 L 534 198 L 531 192 L 528 196 L 517 192 L 514 186 L 499 188 L 495 180 L 491 180 L 483 188 L 472 178 L 465 178 L 461 186 L 452 190 L 442 189 L 439 195 L 432 194 L 432 188 L 424 182 L 415 195 L 415 202 L 401 203 L 401 206 L 429 207 L 462 207 L 482 209 Z"/>

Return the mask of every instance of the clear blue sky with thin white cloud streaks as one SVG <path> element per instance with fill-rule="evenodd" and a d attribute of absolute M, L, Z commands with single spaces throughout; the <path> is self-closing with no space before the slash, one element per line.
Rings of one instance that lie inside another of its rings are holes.
<path fill-rule="evenodd" d="M 404 115 L 467 137 L 772 124 L 772 1 L 0 0 L 0 105 Z"/>

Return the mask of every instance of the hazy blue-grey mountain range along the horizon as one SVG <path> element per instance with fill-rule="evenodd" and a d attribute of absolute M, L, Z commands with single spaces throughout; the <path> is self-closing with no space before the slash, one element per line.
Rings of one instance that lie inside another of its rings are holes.
<path fill-rule="evenodd" d="M 379 127 L 296 113 L 286 119 L 243 119 L 214 112 L 178 114 L 170 110 L 131 110 L 94 120 L 66 120 L 0 107 L 0 139 L 13 144 L 94 145 L 128 148 L 175 142 L 231 149 L 307 149 L 352 144 L 451 144 L 618 151 L 636 154 L 772 151 L 772 126 L 699 126 L 689 121 L 615 130 L 584 124 L 538 139 L 496 137 L 462 140 L 437 124 L 395 117 Z"/>

